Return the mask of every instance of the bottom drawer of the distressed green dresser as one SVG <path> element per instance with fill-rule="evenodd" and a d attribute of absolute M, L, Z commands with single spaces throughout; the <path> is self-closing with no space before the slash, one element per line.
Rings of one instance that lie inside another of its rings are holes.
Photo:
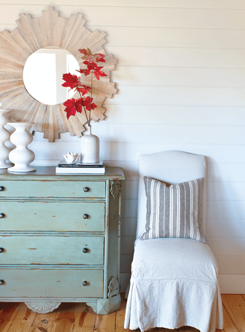
<path fill-rule="evenodd" d="M 103 270 L 0 269 L 3 297 L 103 297 Z M 83 286 L 82 282 L 87 281 Z"/>

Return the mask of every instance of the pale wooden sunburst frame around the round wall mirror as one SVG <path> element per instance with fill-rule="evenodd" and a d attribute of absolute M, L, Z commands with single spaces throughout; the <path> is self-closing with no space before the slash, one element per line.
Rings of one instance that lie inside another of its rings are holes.
<path fill-rule="evenodd" d="M 0 102 L 1 108 L 11 109 L 8 116 L 16 121 L 35 122 L 32 130 L 44 133 L 44 138 L 53 142 L 60 133 L 70 132 L 71 136 L 82 136 L 87 119 L 84 113 L 67 120 L 63 103 L 46 105 L 34 99 L 26 91 L 23 69 L 27 58 L 42 47 L 60 47 L 69 51 L 83 68 L 83 60 L 78 48 L 89 47 L 92 53 L 102 53 L 106 43 L 105 32 L 89 31 L 84 27 L 82 14 L 71 14 L 69 19 L 59 17 L 52 6 L 43 10 L 43 16 L 32 19 L 30 14 L 19 14 L 18 27 L 12 32 L 0 32 Z M 102 107 L 106 97 L 117 93 L 115 83 L 110 82 L 110 71 L 115 70 L 117 60 L 113 55 L 105 55 L 103 71 L 107 74 L 93 83 L 93 102 L 98 106 L 91 111 L 91 119 L 103 120 L 105 109 Z M 77 68 L 79 69 L 79 68 Z M 82 81 L 82 79 L 81 79 Z M 88 85 L 84 78 L 84 84 Z M 74 98 L 79 98 L 76 93 Z"/>

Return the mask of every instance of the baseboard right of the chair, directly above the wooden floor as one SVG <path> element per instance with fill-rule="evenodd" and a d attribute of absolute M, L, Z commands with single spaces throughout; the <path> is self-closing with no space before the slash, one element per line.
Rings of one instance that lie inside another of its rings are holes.
<path fill-rule="evenodd" d="M 245 294 L 245 275 L 219 275 L 221 294 Z"/>

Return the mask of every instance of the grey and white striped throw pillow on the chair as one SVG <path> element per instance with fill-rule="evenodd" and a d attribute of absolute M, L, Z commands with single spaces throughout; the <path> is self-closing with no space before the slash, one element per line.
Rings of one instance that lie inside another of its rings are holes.
<path fill-rule="evenodd" d="M 144 181 L 147 224 L 141 240 L 188 237 L 207 243 L 201 229 L 201 192 L 204 178 L 171 186 L 146 176 Z"/>

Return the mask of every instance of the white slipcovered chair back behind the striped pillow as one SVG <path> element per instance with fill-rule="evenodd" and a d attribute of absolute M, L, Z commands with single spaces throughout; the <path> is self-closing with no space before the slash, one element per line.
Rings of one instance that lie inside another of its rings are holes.
<path fill-rule="evenodd" d="M 144 176 L 162 181 L 168 185 L 188 182 L 206 176 L 206 160 L 204 156 L 181 151 L 163 151 L 141 155 L 139 157 L 139 195 L 137 234 L 139 238 L 146 232 L 147 195 Z M 202 228 L 205 221 L 205 184 L 201 192 Z"/>

